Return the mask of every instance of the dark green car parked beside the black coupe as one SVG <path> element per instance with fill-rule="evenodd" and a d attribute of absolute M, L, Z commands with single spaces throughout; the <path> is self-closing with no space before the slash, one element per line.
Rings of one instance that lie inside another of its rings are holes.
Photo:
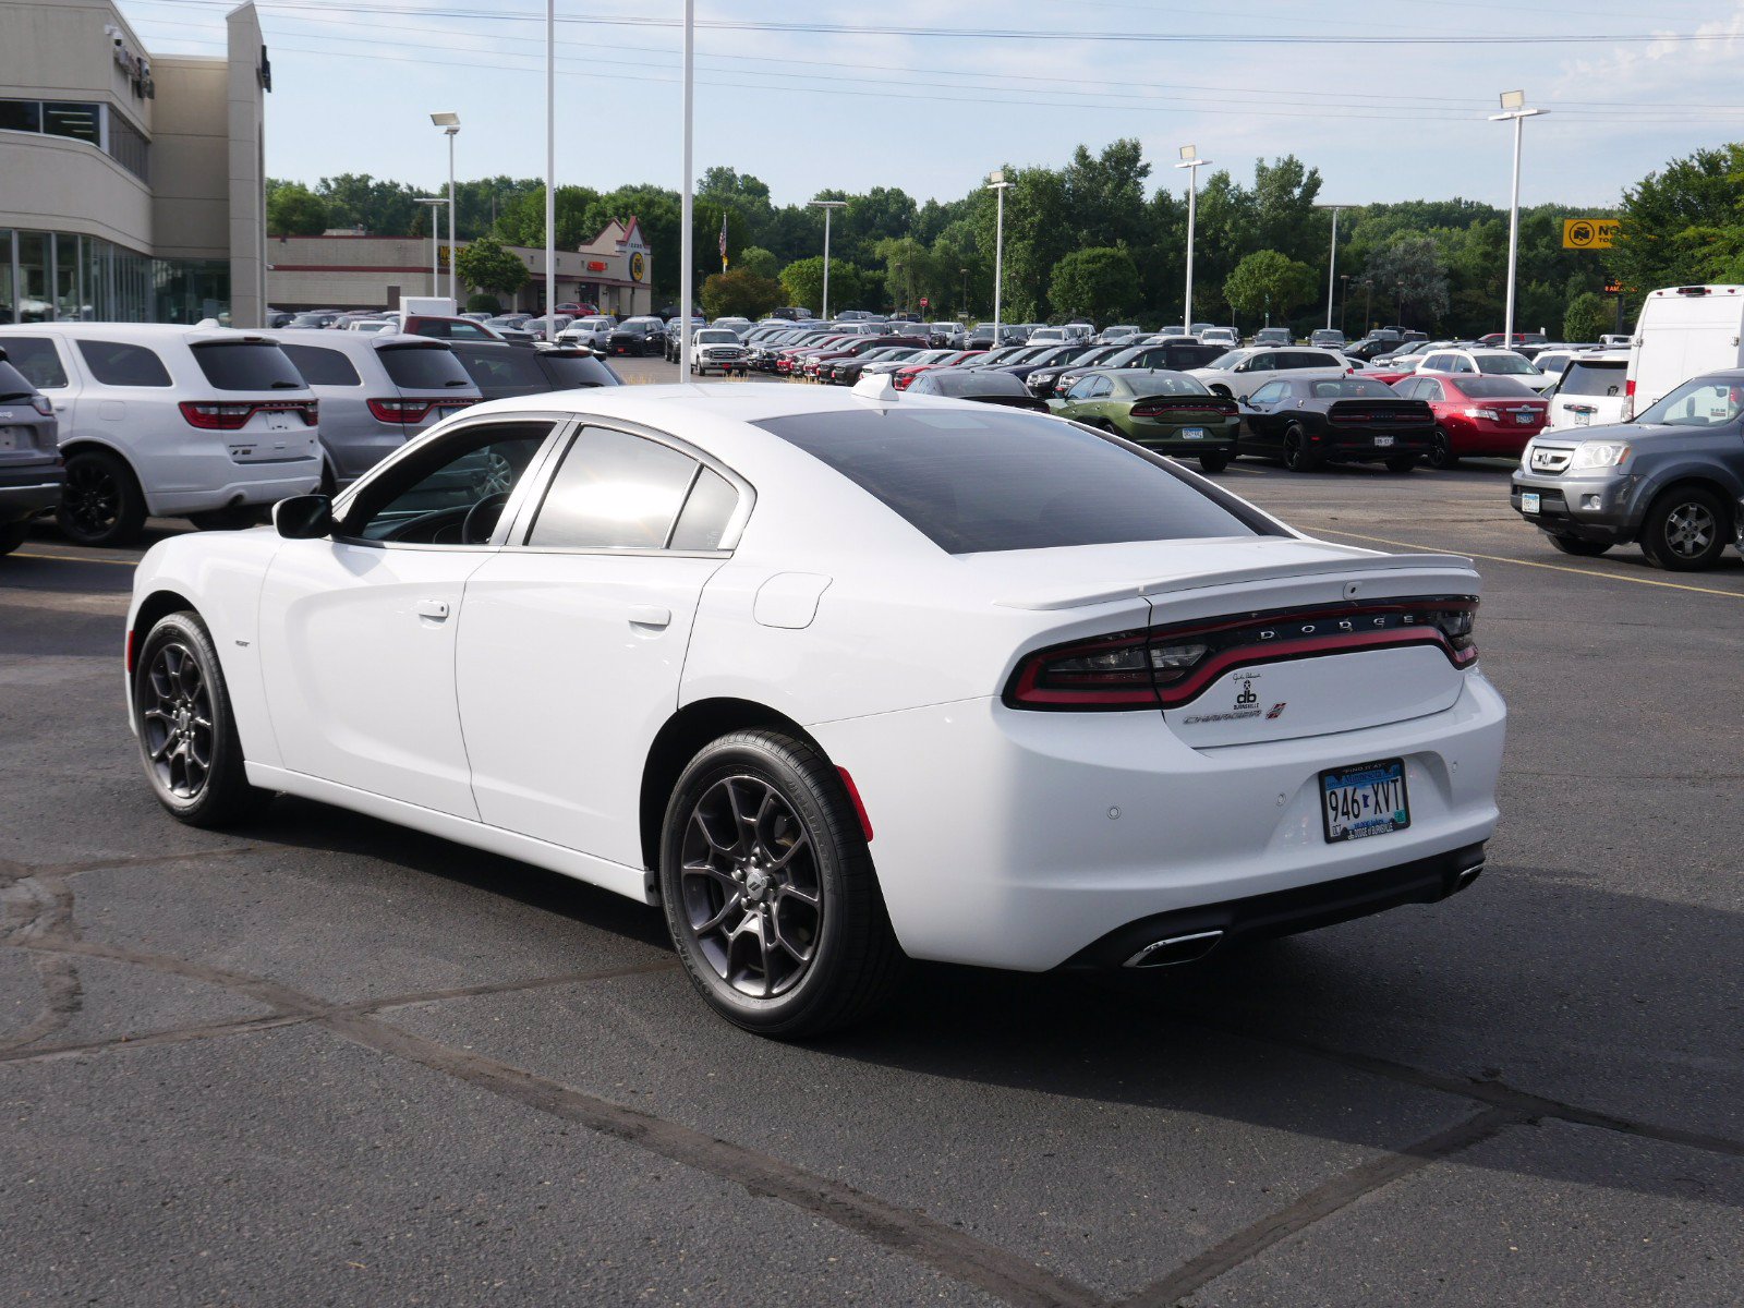
<path fill-rule="evenodd" d="M 1233 399 L 1214 396 L 1195 377 L 1163 370 L 1088 371 L 1048 406 L 1062 419 L 1111 431 L 1148 450 L 1198 459 L 1207 473 L 1230 466 L 1242 426 Z"/>

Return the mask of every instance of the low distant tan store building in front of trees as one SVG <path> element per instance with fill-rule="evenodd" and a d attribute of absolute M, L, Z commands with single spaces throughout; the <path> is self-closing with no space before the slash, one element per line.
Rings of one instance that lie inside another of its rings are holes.
<path fill-rule="evenodd" d="M 504 249 L 521 258 L 528 281 L 497 300 L 504 310 L 544 312 L 544 249 Z M 274 309 L 398 309 L 406 295 L 448 295 L 448 241 L 433 235 L 269 235 L 267 265 Z M 654 253 L 640 223 L 614 220 L 579 249 L 556 251 L 556 302 L 591 303 L 619 317 L 647 314 L 652 276 Z M 459 288 L 462 307 L 469 290 Z"/>

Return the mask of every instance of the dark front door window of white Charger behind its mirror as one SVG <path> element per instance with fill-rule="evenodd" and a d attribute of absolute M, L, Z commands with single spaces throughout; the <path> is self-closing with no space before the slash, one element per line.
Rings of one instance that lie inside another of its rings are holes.
<path fill-rule="evenodd" d="M 467 426 L 364 483 L 338 534 L 399 544 L 485 544 L 549 422 Z"/>

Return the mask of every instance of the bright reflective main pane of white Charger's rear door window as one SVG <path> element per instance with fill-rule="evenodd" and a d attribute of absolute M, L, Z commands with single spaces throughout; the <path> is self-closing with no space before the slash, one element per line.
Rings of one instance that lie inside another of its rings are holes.
<path fill-rule="evenodd" d="M 698 464 L 671 446 L 586 427 L 527 537 L 546 549 L 663 549 Z"/>

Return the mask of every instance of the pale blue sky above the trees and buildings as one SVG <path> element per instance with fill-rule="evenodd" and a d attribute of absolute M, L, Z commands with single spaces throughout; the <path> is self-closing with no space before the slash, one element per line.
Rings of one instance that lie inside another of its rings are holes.
<path fill-rule="evenodd" d="M 215 54 L 234 0 L 119 0 L 153 54 Z M 267 173 L 436 187 L 544 176 L 539 0 L 270 0 Z M 682 0 L 558 0 L 560 185 L 682 178 Z M 694 173 L 727 164 L 778 204 L 821 188 L 966 194 L 1001 164 L 1142 141 L 1250 180 L 1318 167 L 1320 199 L 1615 204 L 1669 159 L 1744 140 L 1744 0 L 696 0 Z M 1039 33 L 1039 35 L 1034 35 Z M 1540 38 L 1540 40 L 1528 40 Z M 1216 171 L 1216 169 L 1207 169 Z M 1205 173 L 1202 173 L 1202 178 Z"/>

